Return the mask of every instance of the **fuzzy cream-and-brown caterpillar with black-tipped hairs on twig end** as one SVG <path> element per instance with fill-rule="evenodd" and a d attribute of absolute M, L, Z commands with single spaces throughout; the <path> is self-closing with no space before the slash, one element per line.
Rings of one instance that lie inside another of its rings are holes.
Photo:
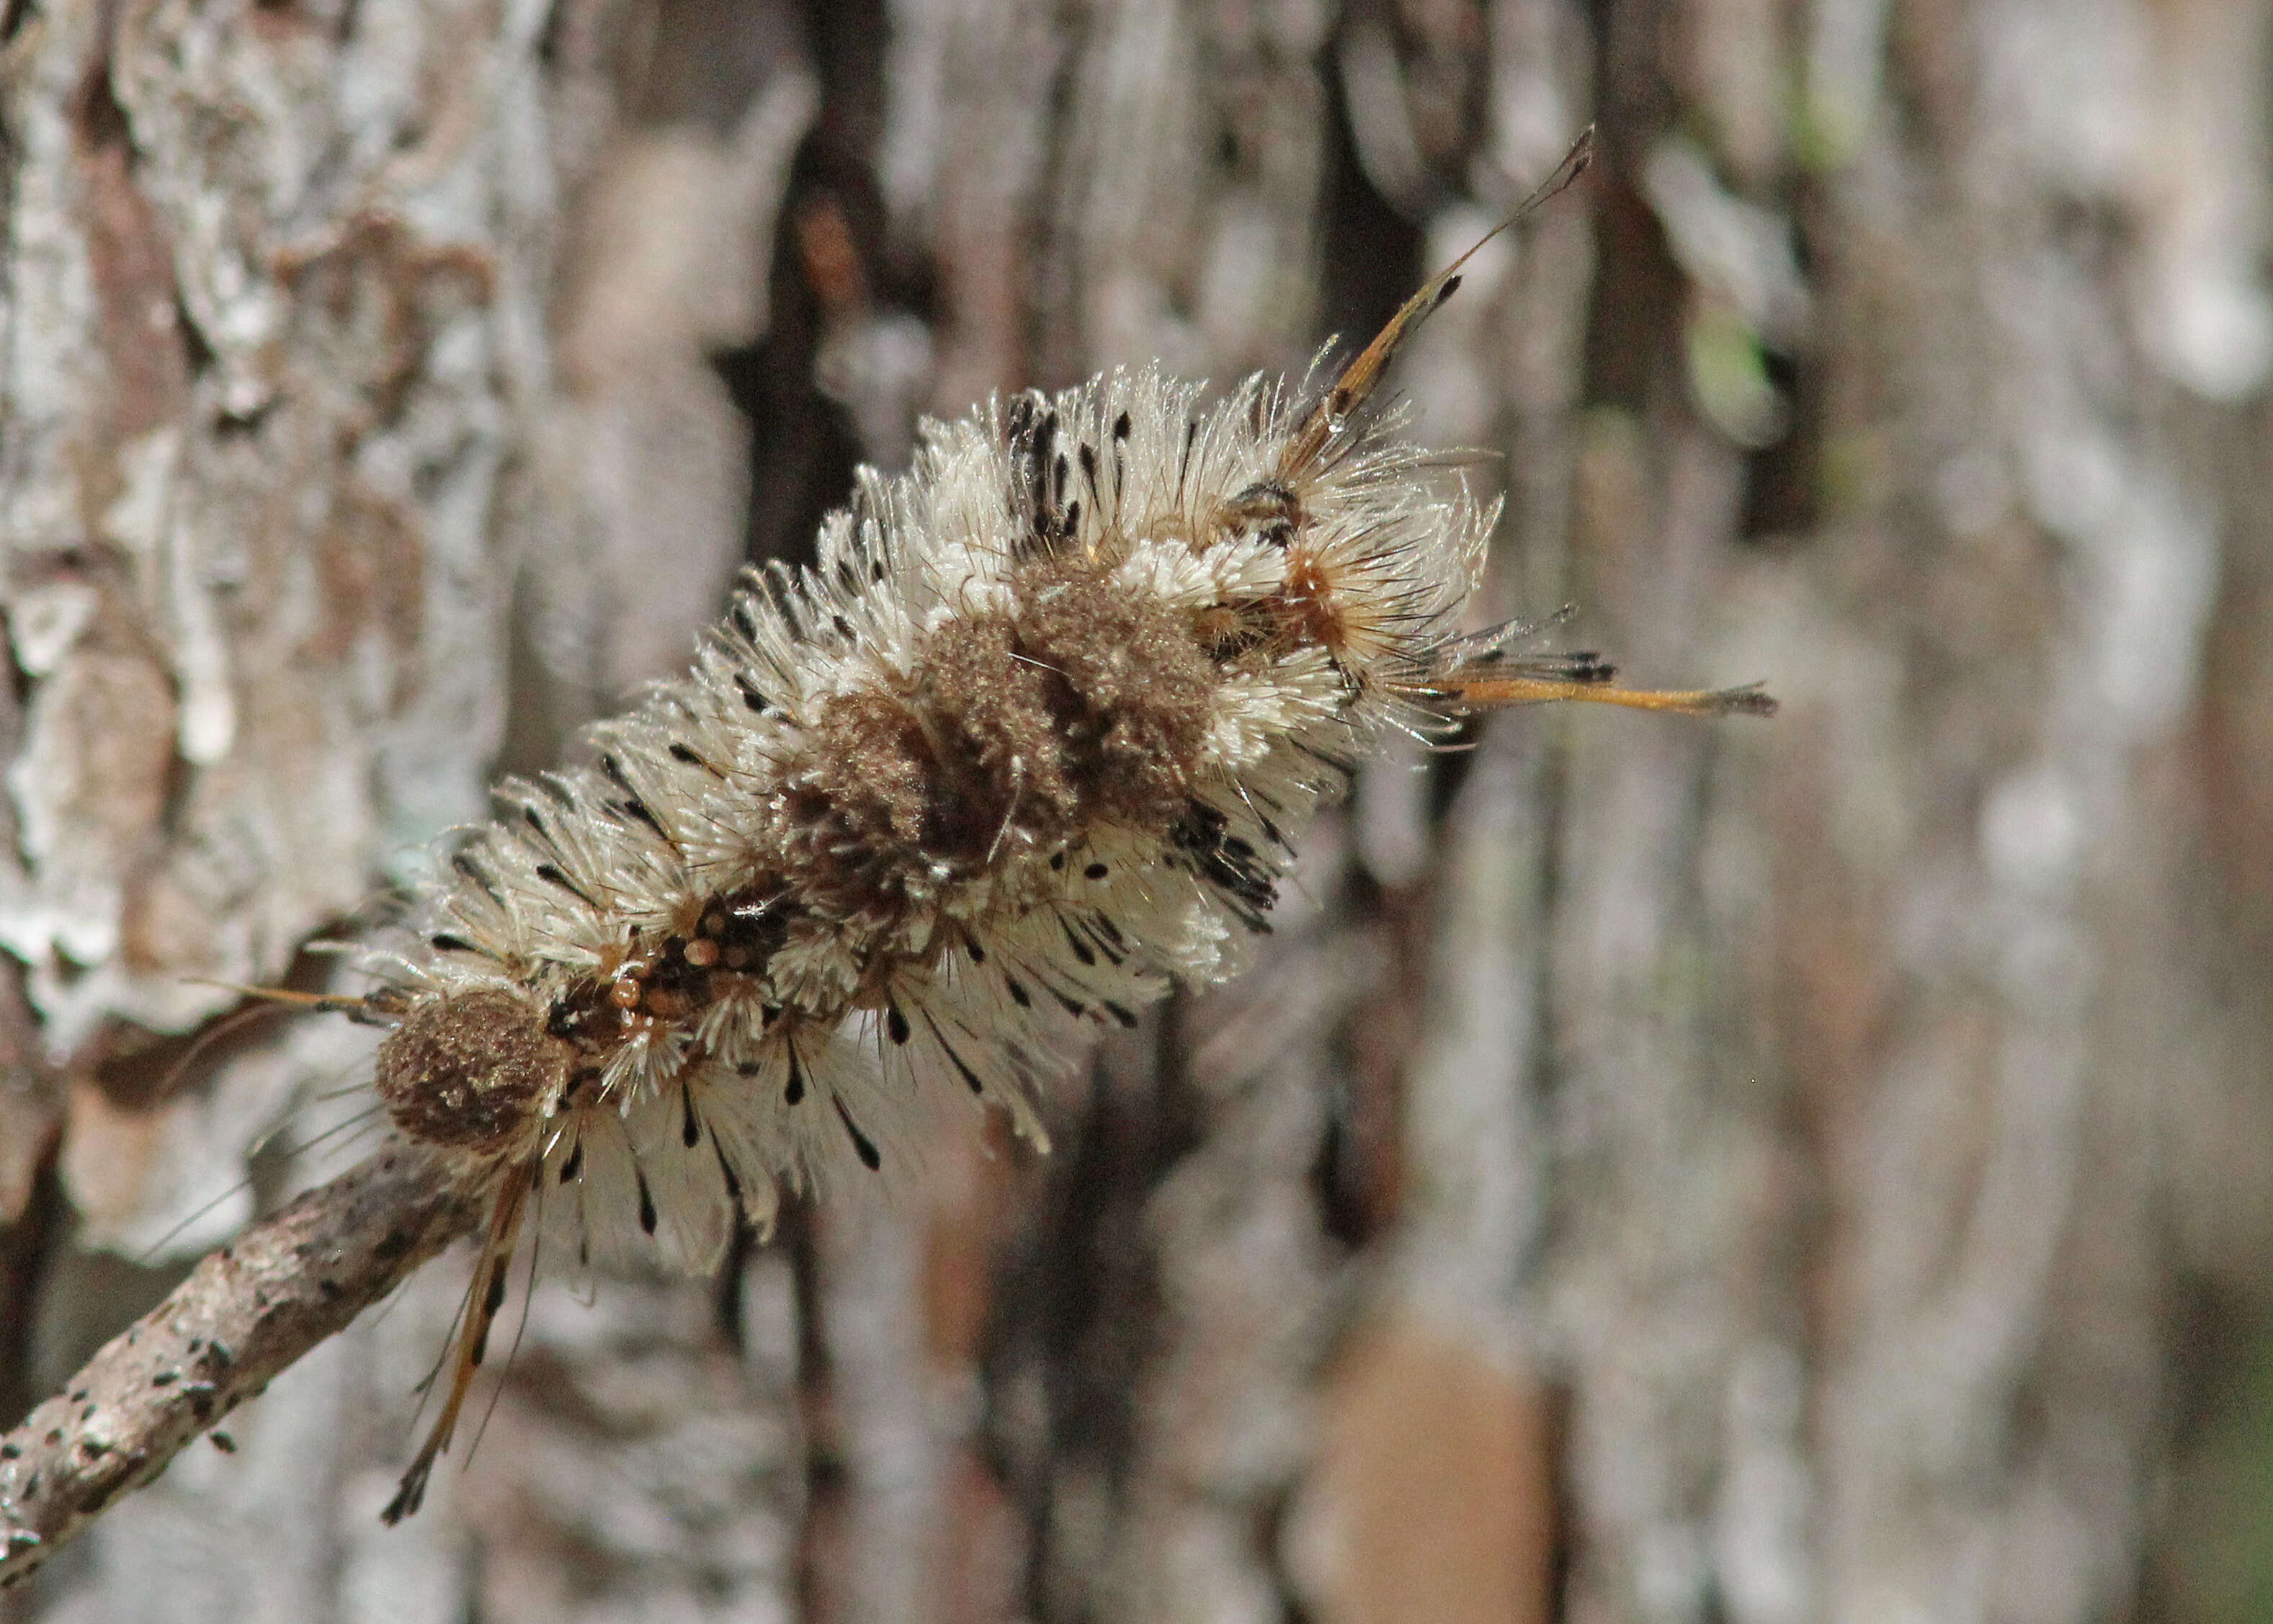
<path fill-rule="evenodd" d="M 1452 635 L 1496 509 L 1434 494 L 1375 389 L 1457 268 L 1318 393 L 1255 378 L 1207 405 L 1141 371 L 930 425 L 907 475 L 861 473 L 811 569 L 755 578 L 689 676 L 593 730 L 596 767 L 505 785 L 355 1008 L 391 1026 L 396 1130 L 489 1212 L 389 1522 L 539 1208 L 577 1246 L 700 1267 L 736 1215 L 882 1169 L 946 1101 L 1039 1137 L 1068 1035 L 1232 973 L 1389 728 L 1773 710 L 1505 653 L 1523 628 Z"/>

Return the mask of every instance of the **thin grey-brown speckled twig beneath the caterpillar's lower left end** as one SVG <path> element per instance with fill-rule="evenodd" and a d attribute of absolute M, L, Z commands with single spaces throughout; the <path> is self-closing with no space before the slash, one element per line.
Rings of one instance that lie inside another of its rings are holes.
<path fill-rule="evenodd" d="M 473 1228 L 475 1203 L 391 1144 L 205 1258 L 0 1437 L 0 1588 Z"/>

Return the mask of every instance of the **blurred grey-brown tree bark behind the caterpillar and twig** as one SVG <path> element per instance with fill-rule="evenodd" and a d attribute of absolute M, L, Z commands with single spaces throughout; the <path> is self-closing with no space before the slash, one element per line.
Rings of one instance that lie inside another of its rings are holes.
<path fill-rule="evenodd" d="M 2264 0 L 0 7 L 7 1417 L 352 1153 L 364 1039 L 184 1067 L 211 983 L 323 985 L 921 412 L 1300 371 L 1589 118 L 1400 387 L 1498 453 L 1496 612 L 1784 698 L 1371 771 L 1048 1160 L 539 1287 L 382 1531 L 430 1267 L 0 1617 L 2262 1617 L 2268 48 Z"/>

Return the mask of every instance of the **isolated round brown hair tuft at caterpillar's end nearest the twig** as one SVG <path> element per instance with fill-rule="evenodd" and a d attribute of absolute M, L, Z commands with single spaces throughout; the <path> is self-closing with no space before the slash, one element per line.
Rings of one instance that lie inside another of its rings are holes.
<path fill-rule="evenodd" d="M 380 1044 L 377 1087 L 396 1126 L 473 1155 L 518 1149 L 568 1080 L 571 1049 L 546 1012 L 502 987 L 418 1003 Z"/>

